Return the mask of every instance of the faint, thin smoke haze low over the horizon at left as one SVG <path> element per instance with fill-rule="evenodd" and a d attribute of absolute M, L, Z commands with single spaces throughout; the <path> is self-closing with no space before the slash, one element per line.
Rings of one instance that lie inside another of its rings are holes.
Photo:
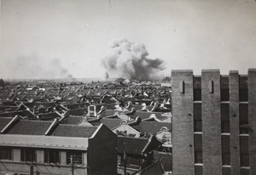
<path fill-rule="evenodd" d="M 37 56 L 20 56 L 15 61 L 15 78 L 61 78 L 74 81 L 61 65 L 61 59 L 39 59 Z"/>

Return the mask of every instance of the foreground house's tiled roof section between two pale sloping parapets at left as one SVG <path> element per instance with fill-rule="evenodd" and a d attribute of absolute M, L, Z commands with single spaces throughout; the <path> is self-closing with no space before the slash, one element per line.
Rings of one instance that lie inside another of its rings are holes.
<path fill-rule="evenodd" d="M 27 135 L 44 135 L 51 121 L 26 121 L 21 120 L 11 127 L 7 133 L 9 134 L 27 134 Z"/>

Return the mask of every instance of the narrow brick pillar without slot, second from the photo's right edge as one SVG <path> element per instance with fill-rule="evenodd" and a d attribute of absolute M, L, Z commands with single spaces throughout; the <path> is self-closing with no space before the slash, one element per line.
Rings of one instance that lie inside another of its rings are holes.
<path fill-rule="evenodd" d="M 230 71 L 230 165 L 231 174 L 240 175 L 238 71 Z"/>

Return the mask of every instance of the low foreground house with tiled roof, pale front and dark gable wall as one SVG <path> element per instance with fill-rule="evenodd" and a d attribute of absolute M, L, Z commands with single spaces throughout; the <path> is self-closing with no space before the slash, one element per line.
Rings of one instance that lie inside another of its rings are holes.
<path fill-rule="evenodd" d="M 116 174 L 116 135 L 57 120 L 0 118 L 0 174 Z"/>

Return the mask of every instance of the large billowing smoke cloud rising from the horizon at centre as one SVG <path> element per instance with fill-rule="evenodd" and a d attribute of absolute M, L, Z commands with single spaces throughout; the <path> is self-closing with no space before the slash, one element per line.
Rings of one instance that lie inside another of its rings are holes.
<path fill-rule="evenodd" d="M 111 44 L 102 65 L 110 76 L 137 80 L 157 79 L 158 73 L 166 69 L 162 59 L 148 59 L 148 51 L 143 44 L 127 39 Z"/>

